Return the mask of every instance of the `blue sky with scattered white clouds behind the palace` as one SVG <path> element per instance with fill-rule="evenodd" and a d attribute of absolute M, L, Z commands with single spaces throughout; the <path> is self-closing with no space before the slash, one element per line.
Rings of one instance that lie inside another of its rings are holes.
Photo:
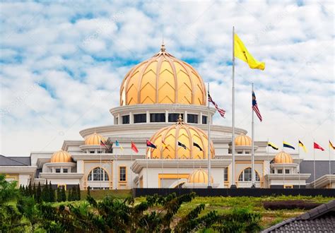
<path fill-rule="evenodd" d="M 279 3 L 280 2 L 280 3 Z M 192 64 L 231 125 L 232 27 L 265 71 L 236 62 L 236 126 L 251 129 L 251 83 L 264 121 L 257 140 L 334 136 L 334 4 L 331 1 L 1 1 L 2 155 L 58 150 L 78 131 L 113 122 L 119 85 L 160 49 Z"/>

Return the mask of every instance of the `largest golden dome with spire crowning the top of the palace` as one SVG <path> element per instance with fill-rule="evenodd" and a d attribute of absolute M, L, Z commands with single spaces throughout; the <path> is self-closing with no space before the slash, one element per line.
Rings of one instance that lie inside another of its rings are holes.
<path fill-rule="evenodd" d="M 165 52 L 137 64 L 127 73 L 120 88 L 120 105 L 206 105 L 204 81 L 196 70 Z"/>

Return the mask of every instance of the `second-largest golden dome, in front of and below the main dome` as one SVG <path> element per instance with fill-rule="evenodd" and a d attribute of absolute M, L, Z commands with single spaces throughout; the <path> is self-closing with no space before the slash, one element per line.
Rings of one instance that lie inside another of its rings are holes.
<path fill-rule="evenodd" d="M 208 137 L 204 131 L 182 122 L 182 117 L 172 126 L 164 127 L 157 131 L 150 139 L 157 149 L 148 148 L 148 157 L 157 159 L 205 159 L 208 155 Z M 178 141 L 186 149 L 178 146 Z M 202 149 L 197 148 L 196 145 Z M 166 145 L 166 147 L 165 147 Z M 214 156 L 214 146 L 211 142 L 211 157 Z"/>

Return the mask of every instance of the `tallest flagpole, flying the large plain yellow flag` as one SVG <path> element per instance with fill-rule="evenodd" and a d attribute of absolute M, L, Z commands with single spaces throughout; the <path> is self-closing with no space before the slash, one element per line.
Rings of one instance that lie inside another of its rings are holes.
<path fill-rule="evenodd" d="M 232 184 L 230 188 L 237 188 L 235 184 L 235 27 L 233 26 L 233 104 L 232 104 L 232 124 L 233 124 L 233 136 L 232 136 Z"/>

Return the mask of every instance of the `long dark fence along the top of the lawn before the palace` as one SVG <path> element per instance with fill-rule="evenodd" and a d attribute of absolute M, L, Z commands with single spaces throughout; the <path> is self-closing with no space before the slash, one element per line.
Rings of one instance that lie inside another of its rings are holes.
<path fill-rule="evenodd" d="M 335 197 L 335 189 L 133 189 L 133 196 L 149 196 L 157 193 L 166 196 L 170 193 L 182 195 L 196 193 L 197 196 L 324 196 Z"/>

